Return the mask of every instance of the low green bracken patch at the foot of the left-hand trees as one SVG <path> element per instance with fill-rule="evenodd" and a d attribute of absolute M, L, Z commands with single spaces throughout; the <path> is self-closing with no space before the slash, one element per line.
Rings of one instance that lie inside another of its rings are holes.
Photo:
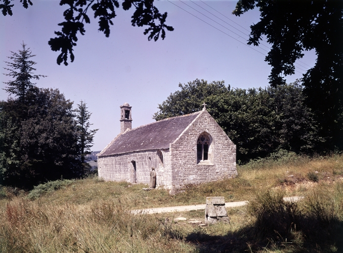
<path fill-rule="evenodd" d="M 35 186 L 33 190 L 29 192 L 27 197 L 30 200 L 38 199 L 39 197 L 41 197 L 42 195 L 46 193 L 51 193 L 53 191 L 66 187 L 74 182 L 75 180 L 61 179 L 61 180 L 56 180 L 56 181 L 49 181 L 44 184 L 39 184 Z"/>

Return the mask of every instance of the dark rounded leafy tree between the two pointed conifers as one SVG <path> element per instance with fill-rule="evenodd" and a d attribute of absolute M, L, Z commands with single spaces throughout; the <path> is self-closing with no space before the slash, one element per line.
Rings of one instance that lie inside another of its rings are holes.
<path fill-rule="evenodd" d="M 82 176 L 73 102 L 58 89 L 39 89 L 28 116 L 20 143 L 31 183 Z"/>

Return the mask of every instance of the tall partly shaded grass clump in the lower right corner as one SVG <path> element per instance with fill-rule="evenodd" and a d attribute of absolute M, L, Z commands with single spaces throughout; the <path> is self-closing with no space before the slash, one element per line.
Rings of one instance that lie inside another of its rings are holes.
<path fill-rule="evenodd" d="M 320 252 L 337 248 L 343 238 L 343 183 L 328 189 L 313 189 L 298 203 L 284 201 L 281 191 L 257 193 L 249 204 L 257 245 L 280 249 L 288 243 L 295 251 Z"/>

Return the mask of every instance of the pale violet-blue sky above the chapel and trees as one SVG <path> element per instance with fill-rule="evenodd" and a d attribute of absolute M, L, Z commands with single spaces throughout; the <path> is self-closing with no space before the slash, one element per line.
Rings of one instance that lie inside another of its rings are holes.
<path fill-rule="evenodd" d="M 59 52 L 48 41 L 56 37 L 63 22 L 59 0 L 36 0 L 28 9 L 14 1 L 12 16 L 0 15 L 0 69 L 8 73 L 4 61 L 10 51 L 21 49 L 25 42 L 36 56 L 36 74 L 46 75 L 37 81 L 40 88 L 58 88 L 74 107 L 85 101 L 92 113 L 93 151 L 100 151 L 120 133 L 120 106 L 132 106 L 132 128 L 154 122 L 158 105 L 186 84 L 196 79 L 224 81 L 231 88 L 268 86 L 271 67 L 264 61 L 268 43 L 249 46 L 250 25 L 259 20 L 258 9 L 240 17 L 232 11 L 236 1 L 159 0 L 160 12 L 168 12 L 166 24 L 174 31 L 165 40 L 148 41 L 144 28 L 131 26 L 133 9 L 117 9 L 110 37 L 98 31 L 97 20 L 86 24 L 85 36 L 79 34 L 74 47 L 75 60 L 68 66 L 57 65 Z M 214 15 L 213 15 L 214 14 Z M 90 13 L 89 16 L 92 16 Z M 316 59 L 313 51 L 304 52 L 297 61 L 296 74 L 287 83 L 300 79 Z M 0 100 L 8 93 L 2 88 L 10 79 L 0 75 Z"/>

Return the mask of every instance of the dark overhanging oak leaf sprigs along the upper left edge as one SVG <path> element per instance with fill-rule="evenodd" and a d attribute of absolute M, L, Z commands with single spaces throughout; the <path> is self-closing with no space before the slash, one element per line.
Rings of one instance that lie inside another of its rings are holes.
<path fill-rule="evenodd" d="M 12 15 L 11 4 L 14 0 L 0 0 L 0 9 L 2 14 Z M 33 5 L 31 0 L 22 0 L 24 8 L 29 4 Z M 90 23 L 88 16 L 89 9 L 93 10 L 94 19 L 98 18 L 99 31 L 103 32 L 106 37 L 110 36 L 110 25 L 113 25 L 113 19 L 116 17 L 115 8 L 119 8 L 118 0 L 60 0 L 60 5 L 68 5 L 63 12 L 65 21 L 59 23 L 61 31 L 55 32 L 57 37 L 51 38 L 48 42 L 51 50 L 61 51 L 57 57 L 57 64 L 64 63 L 68 65 L 68 53 L 71 62 L 74 61 L 73 47 L 78 41 L 78 33 L 85 35 L 85 23 Z M 167 12 L 161 14 L 154 5 L 154 0 L 123 0 L 122 7 L 124 10 L 135 8 L 131 16 L 132 26 L 147 26 L 144 34 L 149 34 L 148 40 L 157 41 L 161 35 L 162 40 L 166 37 L 166 31 L 173 31 L 171 26 L 165 24 Z"/>

